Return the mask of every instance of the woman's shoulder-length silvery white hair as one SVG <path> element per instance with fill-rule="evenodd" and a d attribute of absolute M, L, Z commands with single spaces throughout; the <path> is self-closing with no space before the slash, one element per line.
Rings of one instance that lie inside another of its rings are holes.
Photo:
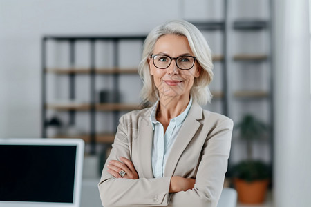
<path fill-rule="evenodd" d="M 156 41 L 165 34 L 187 37 L 191 51 L 194 53 L 200 68 L 202 68 L 200 76 L 194 79 L 194 86 L 192 86 L 190 92 L 191 97 L 200 105 L 210 102 L 212 95 L 208 85 L 214 76 L 211 50 L 200 30 L 193 24 L 183 20 L 168 21 L 157 26 L 151 30 L 144 41 L 142 61 L 138 66 L 138 73 L 144 83 L 140 92 L 143 102 L 155 103 L 159 98 L 158 89 L 153 82 L 153 77 L 150 75 L 148 58 L 153 53 Z"/>

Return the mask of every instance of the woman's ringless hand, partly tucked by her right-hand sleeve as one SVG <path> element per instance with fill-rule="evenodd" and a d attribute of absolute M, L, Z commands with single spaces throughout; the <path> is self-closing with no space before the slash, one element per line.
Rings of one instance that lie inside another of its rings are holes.
<path fill-rule="evenodd" d="M 169 185 L 169 193 L 187 191 L 194 188 L 195 183 L 196 179 L 173 176 L 171 177 L 171 184 Z"/>

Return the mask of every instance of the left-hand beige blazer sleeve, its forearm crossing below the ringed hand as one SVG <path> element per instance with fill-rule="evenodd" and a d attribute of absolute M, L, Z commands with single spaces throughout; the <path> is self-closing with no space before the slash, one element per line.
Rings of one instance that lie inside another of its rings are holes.
<path fill-rule="evenodd" d="M 124 124 L 124 116 L 117 126 L 115 141 L 107 161 L 119 157 L 131 159 L 131 135 Z M 107 161 L 98 188 L 104 207 L 109 206 L 167 206 L 171 177 L 118 179 L 107 172 Z"/>

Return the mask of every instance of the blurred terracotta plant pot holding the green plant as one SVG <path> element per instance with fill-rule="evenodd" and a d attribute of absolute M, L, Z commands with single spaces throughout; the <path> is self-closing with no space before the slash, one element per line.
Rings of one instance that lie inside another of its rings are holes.
<path fill-rule="evenodd" d="M 269 179 L 247 182 L 243 179 L 234 179 L 238 192 L 238 201 L 243 204 L 261 204 L 265 201 Z"/>

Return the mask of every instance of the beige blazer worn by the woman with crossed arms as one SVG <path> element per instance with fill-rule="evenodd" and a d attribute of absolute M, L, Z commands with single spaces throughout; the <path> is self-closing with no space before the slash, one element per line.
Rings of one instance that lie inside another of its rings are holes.
<path fill-rule="evenodd" d="M 150 114 L 151 108 L 146 108 L 120 118 L 107 161 L 127 157 L 139 179 L 116 179 L 107 172 L 106 162 L 98 184 L 103 206 L 216 207 L 227 171 L 233 121 L 194 102 L 171 148 L 164 176 L 154 178 Z M 191 190 L 169 193 L 173 175 L 195 178 L 196 184 Z"/>

